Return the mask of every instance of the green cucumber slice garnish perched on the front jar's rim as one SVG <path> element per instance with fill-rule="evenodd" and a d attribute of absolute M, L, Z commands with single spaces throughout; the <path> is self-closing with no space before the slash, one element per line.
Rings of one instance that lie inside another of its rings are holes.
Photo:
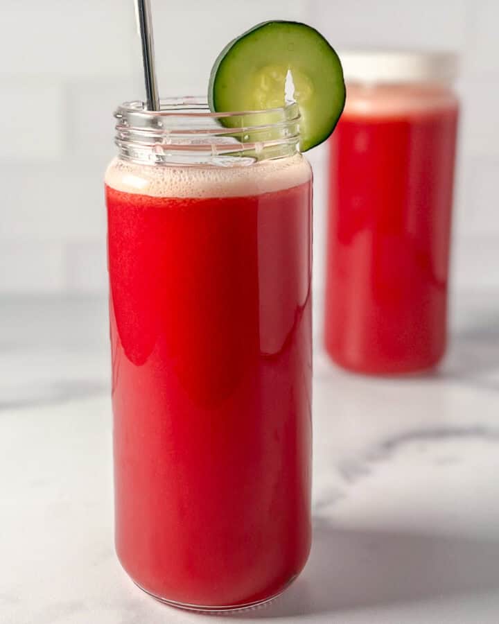
<path fill-rule="evenodd" d="M 299 105 L 302 152 L 333 132 L 345 102 L 338 55 L 315 28 L 298 21 L 264 21 L 231 41 L 213 65 L 213 112 L 268 110 L 286 103 L 288 71 Z M 230 118 L 221 118 L 230 127 Z"/>

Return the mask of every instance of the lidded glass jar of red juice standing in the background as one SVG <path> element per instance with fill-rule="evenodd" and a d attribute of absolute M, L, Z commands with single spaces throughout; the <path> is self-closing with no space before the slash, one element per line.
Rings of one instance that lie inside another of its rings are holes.
<path fill-rule="evenodd" d="M 444 53 L 342 55 L 347 105 L 329 142 L 326 349 L 358 372 L 444 355 L 458 103 Z"/>

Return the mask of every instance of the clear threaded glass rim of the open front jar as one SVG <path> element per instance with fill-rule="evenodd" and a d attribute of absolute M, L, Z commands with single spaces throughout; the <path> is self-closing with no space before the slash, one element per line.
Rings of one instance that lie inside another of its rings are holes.
<path fill-rule="evenodd" d="M 266 159 L 299 149 L 299 106 L 295 102 L 266 110 L 212 112 L 206 98 L 162 98 L 161 110 L 142 101 L 121 104 L 114 112 L 115 143 L 121 157 L 161 164 L 175 158 L 218 162 L 224 157 Z"/>

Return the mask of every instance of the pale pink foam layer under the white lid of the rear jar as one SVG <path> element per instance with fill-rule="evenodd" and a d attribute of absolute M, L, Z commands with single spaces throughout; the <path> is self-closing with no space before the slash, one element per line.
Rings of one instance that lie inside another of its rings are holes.
<path fill-rule="evenodd" d="M 440 110 L 452 110 L 457 106 L 453 93 L 448 89 L 421 88 L 413 85 L 347 87 L 345 116 L 390 116 L 400 114 L 431 114 Z"/>

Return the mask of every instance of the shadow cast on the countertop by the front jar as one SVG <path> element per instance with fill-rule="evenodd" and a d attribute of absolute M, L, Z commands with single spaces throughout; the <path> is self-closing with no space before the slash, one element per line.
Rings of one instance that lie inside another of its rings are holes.
<path fill-rule="evenodd" d="M 267 608 L 236 617 L 335 614 L 493 589 L 499 591 L 499 541 L 346 530 L 318 518 L 295 584 Z"/>

